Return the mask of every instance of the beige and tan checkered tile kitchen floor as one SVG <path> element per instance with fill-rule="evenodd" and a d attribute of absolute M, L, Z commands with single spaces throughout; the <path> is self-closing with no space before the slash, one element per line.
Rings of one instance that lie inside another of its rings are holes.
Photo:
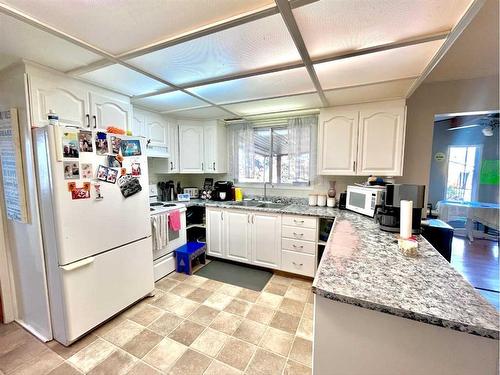
<path fill-rule="evenodd" d="M 312 303 L 303 279 L 255 292 L 173 273 L 68 348 L 0 325 L 0 374 L 311 374 Z"/>

